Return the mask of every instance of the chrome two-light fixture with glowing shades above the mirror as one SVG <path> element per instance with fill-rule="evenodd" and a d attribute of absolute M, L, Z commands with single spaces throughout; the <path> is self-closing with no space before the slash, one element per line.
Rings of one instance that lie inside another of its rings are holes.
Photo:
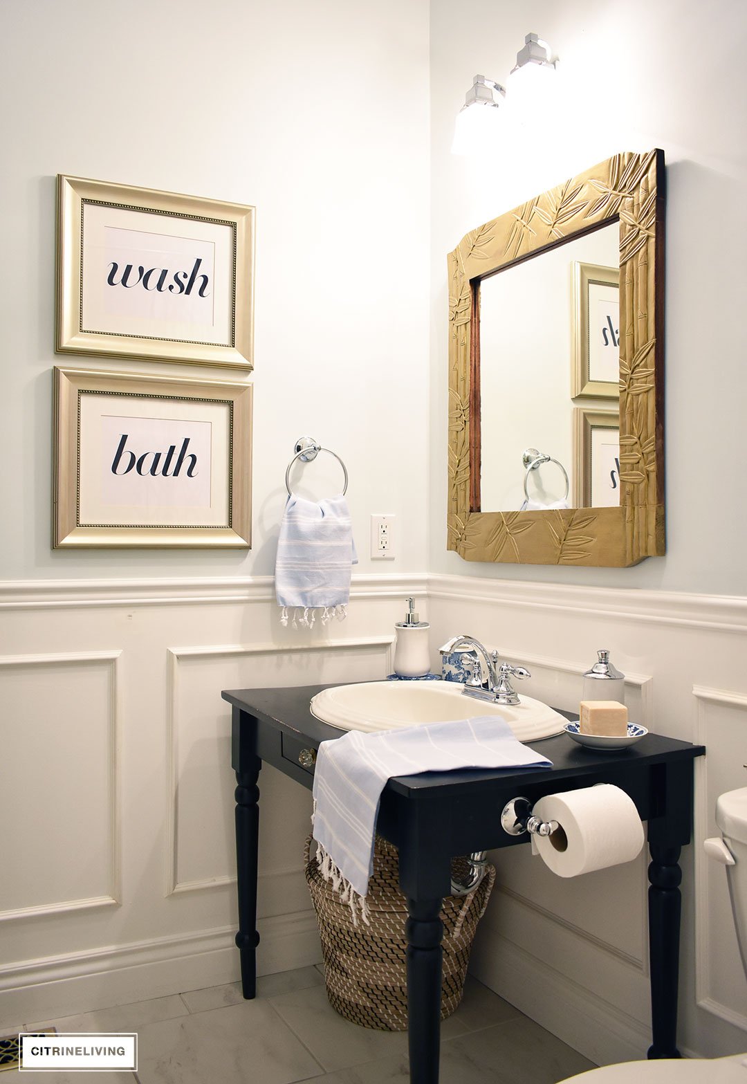
<path fill-rule="evenodd" d="M 536 34 L 528 34 L 524 41 L 524 49 L 516 54 L 516 65 L 508 76 L 508 101 L 515 116 L 533 108 L 542 100 L 557 64 L 548 42 Z M 499 82 L 482 75 L 475 76 L 456 115 L 452 154 L 474 154 L 490 146 L 500 128 L 499 117 L 505 112 L 505 98 L 506 91 Z"/>

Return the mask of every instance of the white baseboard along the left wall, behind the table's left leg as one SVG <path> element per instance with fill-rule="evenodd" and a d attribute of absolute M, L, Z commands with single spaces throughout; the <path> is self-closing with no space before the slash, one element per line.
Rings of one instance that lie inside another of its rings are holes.
<path fill-rule="evenodd" d="M 258 921 L 257 972 L 321 960 L 311 909 Z M 44 959 L 0 971 L 0 1028 L 202 990 L 240 979 L 233 928 L 157 938 Z"/>

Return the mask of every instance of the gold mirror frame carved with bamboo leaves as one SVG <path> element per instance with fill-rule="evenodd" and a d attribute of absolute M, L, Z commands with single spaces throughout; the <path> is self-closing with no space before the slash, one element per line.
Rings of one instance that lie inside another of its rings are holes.
<path fill-rule="evenodd" d="M 465 560 L 622 567 L 664 554 L 664 152 L 616 154 L 449 254 L 448 549 Z M 616 220 L 620 505 L 481 512 L 479 282 Z"/>

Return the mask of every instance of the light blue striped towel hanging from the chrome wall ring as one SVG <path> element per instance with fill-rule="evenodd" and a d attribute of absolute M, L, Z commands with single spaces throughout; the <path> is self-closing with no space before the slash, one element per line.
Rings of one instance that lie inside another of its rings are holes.
<path fill-rule="evenodd" d="M 351 566 L 358 564 L 347 501 L 340 494 L 306 501 L 291 494 L 280 525 L 275 558 L 275 595 L 280 620 L 293 628 L 342 621 L 350 598 Z"/>

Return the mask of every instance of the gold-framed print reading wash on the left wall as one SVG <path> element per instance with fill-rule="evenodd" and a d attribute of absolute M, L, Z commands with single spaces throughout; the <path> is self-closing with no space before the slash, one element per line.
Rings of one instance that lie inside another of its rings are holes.
<path fill-rule="evenodd" d="M 255 208 L 57 177 L 60 353 L 253 369 Z"/>

